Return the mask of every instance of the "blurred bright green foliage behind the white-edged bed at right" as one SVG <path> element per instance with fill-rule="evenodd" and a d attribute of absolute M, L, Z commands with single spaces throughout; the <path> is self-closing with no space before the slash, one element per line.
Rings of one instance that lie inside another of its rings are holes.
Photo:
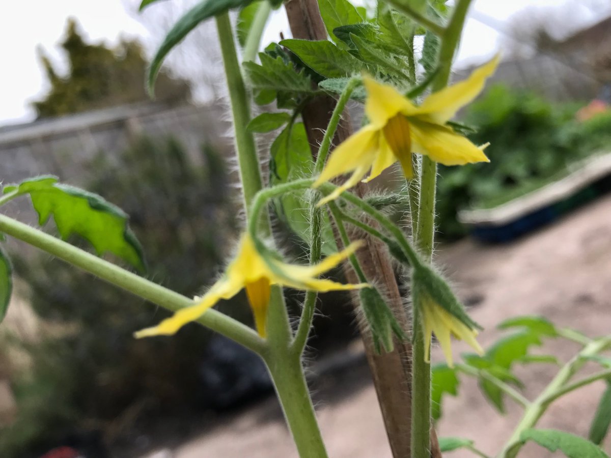
<path fill-rule="evenodd" d="M 470 206 L 494 206 L 536 189 L 563 173 L 567 165 L 611 145 L 611 114 L 578 123 L 576 104 L 554 104 L 530 92 L 492 86 L 473 103 L 464 123 L 477 132 L 475 144 L 490 142 L 490 163 L 439 166 L 437 212 L 446 239 L 465 234 L 456 212 Z"/>

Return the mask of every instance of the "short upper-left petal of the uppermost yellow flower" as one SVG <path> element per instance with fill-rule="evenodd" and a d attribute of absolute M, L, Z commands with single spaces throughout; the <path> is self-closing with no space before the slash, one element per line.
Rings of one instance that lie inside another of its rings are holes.
<path fill-rule="evenodd" d="M 364 76 L 363 82 L 367 89 L 365 114 L 376 129 L 384 127 L 397 113 L 409 116 L 419 112 L 411 101 L 391 85 L 381 84 L 369 76 Z"/>

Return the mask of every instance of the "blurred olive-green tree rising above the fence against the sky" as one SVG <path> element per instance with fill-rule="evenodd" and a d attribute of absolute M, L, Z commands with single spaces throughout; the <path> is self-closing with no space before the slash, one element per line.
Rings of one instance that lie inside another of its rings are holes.
<path fill-rule="evenodd" d="M 144 87 L 147 60 L 136 40 L 121 40 L 115 49 L 89 45 L 78 31 L 75 20 L 68 20 L 61 43 L 68 59 L 68 75 L 57 75 L 48 57 L 39 51 L 46 79 L 51 85 L 42 100 L 35 101 L 38 118 L 59 116 L 148 100 Z M 156 100 L 183 103 L 191 97 L 189 83 L 159 75 Z"/>

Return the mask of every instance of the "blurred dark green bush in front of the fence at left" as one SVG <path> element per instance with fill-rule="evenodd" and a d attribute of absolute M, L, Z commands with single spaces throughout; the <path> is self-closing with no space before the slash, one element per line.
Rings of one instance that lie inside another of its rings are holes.
<path fill-rule="evenodd" d="M 196 159 L 173 139 L 143 137 L 119 161 L 99 154 L 86 185 L 130 214 L 148 277 L 186 296 L 213 282 L 235 229 L 222 159 L 210 147 Z M 32 308 L 55 330 L 26 348 L 32 369 L 13 386 L 19 416 L 0 430 L 0 456 L 24 456 L 73 427 L 101 429 L 113 442 L 138 419 L 182 415 L 205 399 L 198 370 L 210 333 L 200 325 L 136 340 L 134 331 L 169 313 L 43 253 L 13 259 Z M 243 298 L 221 307 L 251 320 Z"/>

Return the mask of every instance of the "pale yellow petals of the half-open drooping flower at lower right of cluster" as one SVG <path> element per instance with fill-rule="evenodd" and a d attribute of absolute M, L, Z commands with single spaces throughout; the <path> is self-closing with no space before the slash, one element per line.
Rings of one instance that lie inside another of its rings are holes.
<path fill-rule="evenodd" d="M 464 322 L 453 316 L 426 294 L 422 296 L 419 307 L 419 312 L 422 316 L 425 361 L 427 363 L 431 362 L 431 335 L 433 333 L 435 333 L 437 341 L 439 341 L 439 345 L 441 345 L 441 349 L 444 352 L 445 360 L 451 368 L 454 366 L 451 336 L 458 340 L 464 340 L 479 355 L 483 355 L 483 349 L 477 343 L 477 340 L 475 340 L 477 330 L 464 324 Z"/>

